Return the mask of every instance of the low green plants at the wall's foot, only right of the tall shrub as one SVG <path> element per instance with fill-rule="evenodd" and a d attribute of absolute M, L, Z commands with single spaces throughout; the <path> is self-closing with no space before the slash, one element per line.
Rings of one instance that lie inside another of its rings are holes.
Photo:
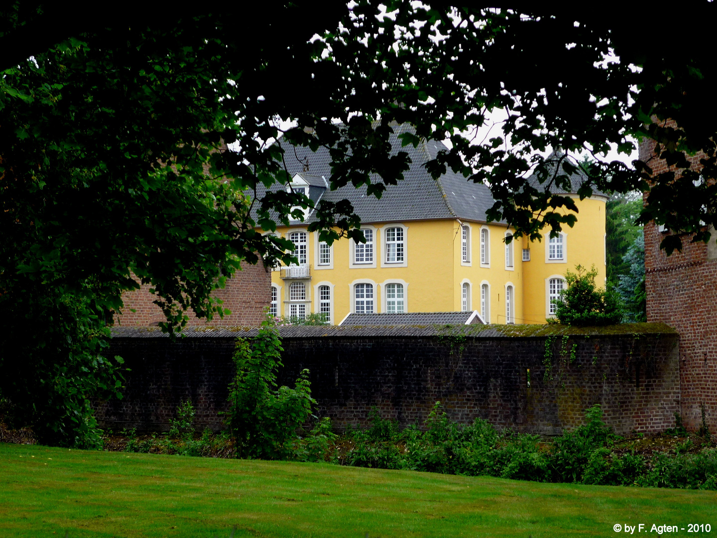
<path fill-rule="evenodd" d="M 544 443 L 538 435 L 498 432 L 480 418 L 457 425 L 447 419 L 440 402 L 429 413 L 424 430 L 399 430 L 374 409 L 368 429 L 349 430 L 337 440 L 350 448 L 326 459 L 351 466 L 539 482 L 717 489 L 716 449 L 687 453 L 688 440 L 674 453 L 655 453 L 652 458 L 619 453 L 615 443 L 620 438 L 602 421 L 602 408 L 593 405 L 585 413 L 584 425 Z"/>

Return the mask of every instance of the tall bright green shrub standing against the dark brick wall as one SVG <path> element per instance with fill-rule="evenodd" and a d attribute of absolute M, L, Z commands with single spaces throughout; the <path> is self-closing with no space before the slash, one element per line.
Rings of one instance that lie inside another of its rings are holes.
<path fill-rule="evenodd" d="M 297 429 L 308 420 L 316 403 L 307 369 L 293 389 L 276 388 L 281 351 L 279 331 L 272 318 L 262 323 L 252 341 L 237 339 L 233 357 L 237 374 L 229 385 L 226 423 L 239 457 L 287 457 L 298 437 Z"/>

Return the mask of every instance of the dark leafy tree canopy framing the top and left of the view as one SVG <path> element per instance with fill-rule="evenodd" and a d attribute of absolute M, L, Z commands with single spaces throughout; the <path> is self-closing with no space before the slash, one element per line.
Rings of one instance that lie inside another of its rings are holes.
<path fill-rule="evenodd" d="M 714 3 L 670 11 L 671 27 L 690 29 L 679 46 L 675 34 L 655 42 L 663 11 L 624 3 L 619 11 L 383 4 L 300 0 L 187 13 L 130 3 L 112 16 L 81 4 L 2 8 L 6 397 L 36 417 L 44 409 L 53 435 L 91 432 L 86 398 L 121 384 L 115 363 L 95 360 L 97 338 L 121 292 L 138 285 L 134 276 L 151 283 L 171 330 L 187 308 L 221 315 L 210 293 L 241 260 L 290 261 L 292 245 L 255 226 L 274 230 L 310 200 L 284 189 L 252 195 L 287 184 L 288 144 L 331 148 L 332 188 L 367 185 L 380 196 L 409 166 L 405 153 L 391 154 L 391 125 L 410 122 L 405 144 L 450 141 L 425 164 L 432 174 L 450 166 L 485 181 L 496 200 L 488 217 L 532 239 L 575 221 L 559 210 L 574 202 L 555 193 L 579 163 L 549 166 L 541 157 L 549 147 L 597 159 L 581 197 L 647 189 L 656 159 L 682 171 L 704 151 L 708 181 L 690 171 L 657 176 L 640 219 L 675 231 L 663 240 L 668 253 L 683 235 L 708 238 L 704 225 L 717 218 L 717 122 L 705 106 L 717 75 Z M 475 127 L 497 111 L 505 121 L 478 140 Z M 280 120 L 295 127 L 282 131 Z M 658 142 L 650 159 L 634 167 L 600 159 L 610 144 L 631 151 L 630 136 Z M 526 183 L 533 171 L 539 186 Z M 315 214 L 310 229 L 323 240 L 362 239 L 348 202 L 322 202 Z M 92 384 L 87 372 L 98 375 Z M 67 379 L 74 388 L 62 392 Z"/>

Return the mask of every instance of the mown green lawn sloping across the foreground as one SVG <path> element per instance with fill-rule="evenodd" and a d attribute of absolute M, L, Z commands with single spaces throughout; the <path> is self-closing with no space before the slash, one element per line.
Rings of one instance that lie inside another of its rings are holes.
<path fill-rule="evenodd" d="M 717 532 L 717 493 L 0 444 L 4 538 L 607 537 L 616 523 Z"/>

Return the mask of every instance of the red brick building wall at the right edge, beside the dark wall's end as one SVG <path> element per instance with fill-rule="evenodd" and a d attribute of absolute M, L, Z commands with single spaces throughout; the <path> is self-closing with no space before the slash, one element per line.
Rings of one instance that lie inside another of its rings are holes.
<path fill-rule="evenodd" d="M 674 123 L 673 123 L 674 126 Z M 646 161 L 655 142 L 640 143 Z M 695 169 L 703 154 L 690 158 Z M 668 171 L 664 160 L 648 163 L 654 174 Z M 707 259 L 703 242 L 683 238 L 682 252 L 669 257 L 660 250 L 663 233 L 654 222 L 645 225 L 645 288 L 647 321 L 662 321 L 680 334 L 680 414 L 695 430 L 706 413 L 711 432 L 717 431 L 717 260 Z"/>

